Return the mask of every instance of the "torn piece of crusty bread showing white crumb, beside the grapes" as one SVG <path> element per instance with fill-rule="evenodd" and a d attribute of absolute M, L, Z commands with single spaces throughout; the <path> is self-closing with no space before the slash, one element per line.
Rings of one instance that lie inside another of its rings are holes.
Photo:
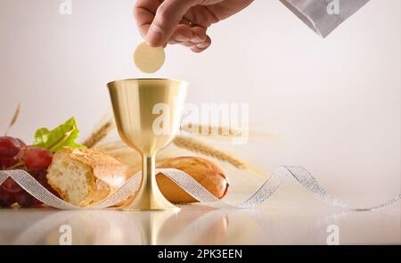
<path fill-rule="evenodd" d="M 109 155 L 86 148 L 63 148 L 47 170 L 49 185 L 64 201 L 86 207 L 124 185 L 129 169 Z"/>

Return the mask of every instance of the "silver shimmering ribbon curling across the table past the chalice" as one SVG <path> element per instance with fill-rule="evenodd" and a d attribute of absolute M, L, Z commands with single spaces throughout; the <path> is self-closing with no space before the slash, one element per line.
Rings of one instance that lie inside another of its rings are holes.
<path fill-rule="evenodd" d="M 288 177 L 294 178 L 299 183 L 299 185 L 303 186 L 309 193 L 312 193 L 316 199 L 325 201 L 333 207 L 340 207 L 347 210 L 378 210 L 401 200 L 400 193 L 396 198 L 385 201 L 373 207 L 352 208 L 346 203 L 340 201 L 338 198 L 332 196 L 330 193 L 327 193 L 323 186 L 317 182 L 315 177 L 313 177 L 306 168 L 282 166 L 274 170 L 274 172 L 270 174 L 270 177 L 268 177 L 265 183 L 261 185 L 255 193 L 250 195 L 250 198 L 242 201 L 240 204 L 233 205 L 219 200 L 216 196 L 210 193 L 206 188 L 204 188 L 195 179 L 190 177 L 182 170 L 178 170 L 175 168 L 161 168 L 156 170 L 156 174 L 157 173 L 163 173 L 165 176 L 175 182 L 176 185 L 180 186 L 186 193 L 189 193 L 193 198 L 217 209 L 247 209 L 256 207 L 260 203 L 269 199 L 269 197 L 280 187 L 280 185 L 282 185 L 282 182 Z M 47 189 L 45 189 L 43 185 L 40 185 L 34 177 L 30 176 L 29 173 L 24 170 L 0 171 L 0 185 L 2 185 L 8 177 L 12 177 L 12 179 L 28 193 L 50 207 L 60 210 L 83 209 L 78 206 L 72 205 L 67 201 L 63 201 L 55 196 L 53 193 L 50 193 L 49 191 L 47 191 Z M 131 177 L 125 185 L 121 186 L 118 191 L 116 191 L 115 193 L 111 193 L 110 196 L 108 196 L 104 200 L 88 206 L 85 209 L 105 209 L 121 201 L 127 200 L 127 198 L 138 189 L 141 182 L 140 179 L 141 172 L 138 172 L 135 174 L 134 177 Z"/>

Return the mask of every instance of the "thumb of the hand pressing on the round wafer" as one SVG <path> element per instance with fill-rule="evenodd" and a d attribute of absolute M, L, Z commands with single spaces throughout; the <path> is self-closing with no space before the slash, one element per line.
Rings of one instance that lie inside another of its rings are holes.
<path fill-rule="evenodd" d="M 199 0 L 165 0 L 160 4 L 145 39 L 151 46 L 168 43 L 184 14 Z"/>

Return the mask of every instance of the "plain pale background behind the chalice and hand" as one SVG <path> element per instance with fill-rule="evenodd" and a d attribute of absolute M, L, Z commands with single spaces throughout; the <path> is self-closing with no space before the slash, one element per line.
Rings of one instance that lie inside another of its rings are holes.
<path fill-rule="evenodd" d="M 110 80 L 182 78 L 189 103 L 250 103 L 251 128 L 272 136 L 231 149 L 266 171 L 303 165 L 343 196 L 400 192 L 399 0 L 372 0 L 326 39 L 278 0 L 255 1 L 210 29 L 207 52 L 169 46 L 151 76 L 132 64 L 134 0 L 72 0 L 71 15 L 62 2 L 0 0 L 1 132 L 20 102 L 12 136 L 31 143 L 71 116 L 85 136 Z"/>

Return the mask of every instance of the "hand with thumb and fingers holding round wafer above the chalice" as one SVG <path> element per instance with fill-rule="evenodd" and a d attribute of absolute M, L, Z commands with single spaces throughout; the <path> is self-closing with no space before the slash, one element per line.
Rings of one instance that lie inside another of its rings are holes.
<path fill-rule="evenodd" d="M 160 70 L 165 59 L 163 48 L 168 44 L 184 45 L 194 53 L 203 52 L 211 45 L 209 26 L 240 12 L 252 1 L 137 0 L 135 21 L 149 46 L 141 45 L 135 51 L 136 66 L 145 73 Z"/>

